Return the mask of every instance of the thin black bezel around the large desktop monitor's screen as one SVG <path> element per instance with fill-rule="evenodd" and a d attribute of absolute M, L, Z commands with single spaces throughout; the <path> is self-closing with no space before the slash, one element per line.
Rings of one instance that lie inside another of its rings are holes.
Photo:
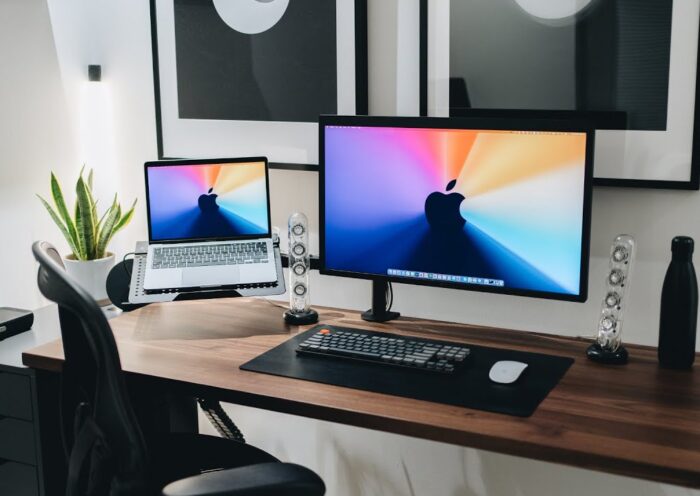
<path fill-rule="evenodd" d="M 404 127 L 425 129 L 483 129 L 503 131 L 553 131 L 553 132 L 581 132 L 586 134 L 586 157 L 584 171 L 583 191 L 583 219 L 581 223 L 581 260 L 580 280 L 578 294 L 555 293 L 537 291 L 533 289 L 507 288 L 498 286 L 485 286 L 470 283 L 452 283 L 447 281 L 412 279 L 388 274 L 373 274 L 368 272 L 354 272 L 328 267 L 326 264 L 326 155 L 325 155 L 325 129 L 328 126 L 360 126 L 360 127 Z M 546 112 L 537 118 L 522 118 L 514 111 L 513 117 L 499 111 L 492 117 L 375 117 L 375 116 L 341 116 L 322 115 L 319 117 L 319 272 L 328 276 L 349 277 L 354 279 L 367 279 L 386 281 L 397 284 L 412 284 L 416 286 L 441 287 L 478 291 L 483 293 L 495 293 L 510 296 L 526 296 L 549 300 L 561 300 L 572 302 L 585 302 L 588 299 L 588 277 L 590 262 L 591 241 L 591 206 L 593 194 L 593 155 L 595 152 L 595 127 L 585 118 L 566 118 L 553 114 L 551 117 Z"/>

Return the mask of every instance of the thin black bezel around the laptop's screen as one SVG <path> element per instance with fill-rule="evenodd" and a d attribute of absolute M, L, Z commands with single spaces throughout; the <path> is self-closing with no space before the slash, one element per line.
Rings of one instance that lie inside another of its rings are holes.
<path fill-rule="evenodd" d="M 263 162 L 265 166 L 265 196 L 267 202 L 267 233 L 264 234 L 241 234 L 239 236 L 208 237 L 208 238 L 168 238 L 153 239 L 151 225 L 151 199 L 148 184 L 148 169 L 168 166 L 187 165 L 221 165 L 240 164 L 251 162 Z M 146 193 L 146 221 L 148 222 L 148 242 L 149 244 L 169 244 L 169 243 L 206 243 L 209 241 L 235 241 L 239 239 L 262 239 L 272 238 L 272 211 L 270 210 L 270 173 L 267 157 L 236 157 L 236 158 L 202 158 L 202 159 L 177 159 L 177 160 L 153 160 L 143 164 L 143 174 L 145 176 Z"/>

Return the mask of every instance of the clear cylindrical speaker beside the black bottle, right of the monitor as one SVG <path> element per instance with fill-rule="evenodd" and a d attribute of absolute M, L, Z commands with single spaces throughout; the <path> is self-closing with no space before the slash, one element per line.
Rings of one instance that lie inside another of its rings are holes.
<path fill-rule="evenodd" d="M 610 262 L 605 273 L 605 293 L 598 317 L 596 341 L 588 348 L 588 357 L 604 363 L 626 363 L 622 346 L 622 324 L 628 305 L 632 263 L 636 254 L 634 238 L 617 236 L 610 247 Z"/>

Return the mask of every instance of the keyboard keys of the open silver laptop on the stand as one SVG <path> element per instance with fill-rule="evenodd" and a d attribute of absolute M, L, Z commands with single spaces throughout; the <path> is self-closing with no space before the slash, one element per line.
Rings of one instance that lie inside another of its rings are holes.
<path fill-rule="evenodd" d="M 216 245 L 164 246 L 153 249 L 153 269 L 268 263 L 267 244 L 260 241 Z"/>

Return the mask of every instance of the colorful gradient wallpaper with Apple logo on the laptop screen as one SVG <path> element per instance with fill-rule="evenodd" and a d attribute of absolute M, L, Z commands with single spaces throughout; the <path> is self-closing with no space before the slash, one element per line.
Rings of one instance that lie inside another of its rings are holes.
<path fill-rule="evenodd" d="M 264 162 L 148 167 L 151 240 L 269 231 Z"/>

